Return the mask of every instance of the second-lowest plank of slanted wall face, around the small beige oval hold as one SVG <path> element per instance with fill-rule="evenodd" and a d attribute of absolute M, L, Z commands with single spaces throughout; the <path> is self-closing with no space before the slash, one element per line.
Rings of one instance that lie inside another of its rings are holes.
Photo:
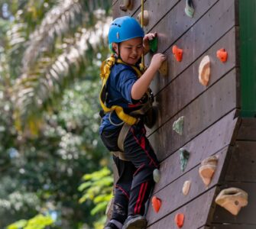
<path fill-rule="evenodd" d="M 219 181 L 219 176 L 222 172 L 222 166 L 225 161 L 225 156 L 227 154 L 228 147 L 222 150 L 219 153 L 216 153 L 219 156 L 218 166 L 215 171 L 215 175 L 212 178 L 212 182 L 209 184 L 208 189 L 211 189 L 213 185 Z M 195 155 L 194 155 L 195 156 Z M 179 166 L 179 160 L 176 161 L 176 164 Z M 180 169 L 176 166 L 176 169 Z M 172 177 L 172 174 L 169 174 Z M 190 192 L 188 195 L 183 195 L 182 188 L 183 183 L 186 180 L 190 180 L 192 182 L 190 187 Z M 147 221 L 148 224 L 153 224 L 155 221 L 160 218 L 164 218 L 167 214 L 174 211 L 177 208 L 180 208 L 182 205 L 188 204 L 194 198 L 197 198 L 199 195 L 202 195 L 203 192 L 206 192 L 207 188 L 203 184 L 202 179 L 199 176 L 199 165 L 190 170 L 189 173 L 184 174 L 179 179 L 174 180 L 170 185 L 167 185 L 164 189 L 160 190 L 160 192 L 155 193 L 158 198 L 161 199 L 162 205 L 160 211 L 155 213 L 153 207 L 150 205 L 147 211 Z"/>

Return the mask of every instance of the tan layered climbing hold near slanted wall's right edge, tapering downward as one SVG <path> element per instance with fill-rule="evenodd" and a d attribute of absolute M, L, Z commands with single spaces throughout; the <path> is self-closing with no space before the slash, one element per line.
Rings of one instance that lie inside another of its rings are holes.
<path fill-rule="evenodd" d="M 202 161 L 199 167 L 199 175 L 203 179 L 203 183 L 208 186 L 212 181 L 212 176 L 217 168 L 218 156 L 209 156 Z"/>

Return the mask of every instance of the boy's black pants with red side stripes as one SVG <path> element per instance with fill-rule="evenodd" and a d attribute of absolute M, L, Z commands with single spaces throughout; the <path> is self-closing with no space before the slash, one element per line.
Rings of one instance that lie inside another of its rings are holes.
<path fill-rule="evenodd" d="M 118 151 L 118 134 L 115 131 L 103 131 L 102 141 L 110 151 Z M 112 219 L 124 223 L 128 215 L 144 214 L 145 203 L 154 187 L 153 171 L 158 168 L 157 156 L 145 136 L 144 124 L 131 126 L 125 138 L 125 157 L 129 161 L 113 156 L 118 169 L 118 181 L 115 185 L 115 200 Z"/>

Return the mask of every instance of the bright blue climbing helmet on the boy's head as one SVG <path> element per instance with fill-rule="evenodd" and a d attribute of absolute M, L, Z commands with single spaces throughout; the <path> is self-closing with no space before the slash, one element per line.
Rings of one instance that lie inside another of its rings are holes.
<path fill-rule="evenodd" d="M 109 27 L 109 44 L 120 43 L 135 37 L 144 37 L 144 31 L 134 18 L 124 16 L 112 21 Z"/>

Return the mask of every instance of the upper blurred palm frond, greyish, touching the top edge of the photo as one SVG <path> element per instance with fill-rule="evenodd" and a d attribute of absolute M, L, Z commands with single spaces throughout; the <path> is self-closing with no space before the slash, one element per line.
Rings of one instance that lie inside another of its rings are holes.
<path fill-rule="evenodd" d="M 82 15 L 82 7 L 76 0 L 65 0 L 53 7 L 30 36 L 28 48 L 24 53 L 24 72 L 34 65 L 41 53 L 51 51 L 56 37 L 62 37 L 81 24 Z"/>

